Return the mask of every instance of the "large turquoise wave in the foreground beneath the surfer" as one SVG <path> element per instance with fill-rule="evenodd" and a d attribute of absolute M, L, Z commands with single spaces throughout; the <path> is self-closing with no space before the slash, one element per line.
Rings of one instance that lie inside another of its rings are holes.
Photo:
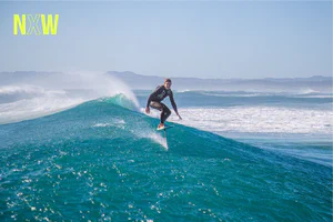
<path fill-rule="evenodd" d="M 130 103 L 0 125 L 1 221 L 332 219 L 332 168 L 179 124 L 168 147 Z"/>

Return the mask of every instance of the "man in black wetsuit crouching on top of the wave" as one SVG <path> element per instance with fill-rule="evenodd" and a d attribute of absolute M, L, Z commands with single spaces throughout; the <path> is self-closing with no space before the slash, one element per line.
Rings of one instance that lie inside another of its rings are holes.
<path fill-rule="evenodd" d="M 175 114 L 179 117 L 179 119 L 182 119 L 180 114 L 178 113 L 175 102 L 173 100 L 173 93 L 171 91 L 171 79 L 165 79 L 164 84 L 157 87 L 157 89 L 149 95 L 147 107 L 145 107 L 145 113 L 150 113 L 150 108 L 154 108 L 157 110 L 162 111 L 161 112 L 161 122 L 158 127 L 158 129 L 164 128 L 164 121 L 169 118 L 171 114 L 170 109 L 162 103 L 161 101 L 164 100 L 164 98 L 169 97 L 172 108 L 175 112 Z"/>

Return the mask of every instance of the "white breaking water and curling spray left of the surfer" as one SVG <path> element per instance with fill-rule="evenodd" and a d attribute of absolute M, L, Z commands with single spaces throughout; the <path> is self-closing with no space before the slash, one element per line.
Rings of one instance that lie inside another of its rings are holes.
<path fill-rule="evenodd" d="M 0 77 L 6 79 L 8 75 Z M 108 74 L 97 72 L 24 73 L 0 85 L 0 124 L 34 119 L 75 107 L 89 100 L 122 94 L 139 110 L 131 89 Z M 4 82 L 4 81 L 3 81 Z"/>

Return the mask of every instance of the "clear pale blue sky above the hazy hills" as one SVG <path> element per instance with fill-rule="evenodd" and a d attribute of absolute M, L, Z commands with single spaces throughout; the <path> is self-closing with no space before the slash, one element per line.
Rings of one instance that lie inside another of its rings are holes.
<path fill-rule="evenodd" d="M 13 36 L 14 13 L 58 13 L 58 33 Z M 0 71 L 332 75 L 332 1 L 2 1 L 0 39 Z"/>

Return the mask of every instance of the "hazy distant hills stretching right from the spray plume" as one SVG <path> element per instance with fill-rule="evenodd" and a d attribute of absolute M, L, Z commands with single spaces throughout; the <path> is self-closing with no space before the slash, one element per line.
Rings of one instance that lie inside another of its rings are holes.
<path fill-rule="evenodd" d="M 164 78 L 142 75 L 134 72 L 109 71 L 132 89 L 152 90 L 162 84 Z M 168 77 L 165 77 L 168 78 Z M 332 92 L 332 77 L 314 75 L 311 78 L 265 78 L 265 79 L 199 79 L 171 78 L 175 90 L 223 90 L 223 91 L 286 91 L 286 92 Z"/>

